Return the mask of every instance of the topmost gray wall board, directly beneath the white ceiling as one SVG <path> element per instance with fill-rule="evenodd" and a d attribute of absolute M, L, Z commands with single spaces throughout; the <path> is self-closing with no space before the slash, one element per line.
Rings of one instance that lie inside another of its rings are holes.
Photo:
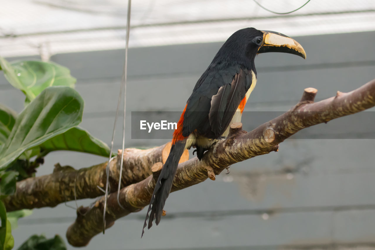
<path fill-rule="evenodd" d="M 260 71 L 280 71 L 286 66 L 293 66 L 291 68 L 294 69 L 305 66 L 316 68 L 319 65 L 329 68 L 330 64 L 331 67 L 341 67 L 355 62 L 374 65 L 375 51 L 372 50 L 372 44 L 367 42 L 374 39 L 375 32 L 298 37 L 296 40 L 306 50 L 305 61 L 295 55 L 266 53 L 259 55 L 255 63 Z M 223 42 L 130 48 L 129 78 L 191 73 L 201 75 L 222 44 Z M 9 58 L 14 59 L 18 58 Z M 78 79 L 121 79 L 124 50 L 57 54 L 51 60 L 67 66 Z M 346 64 L 343 65 L 343 62 Z M 2 82 L 0 78 L 0 84 Z"/>

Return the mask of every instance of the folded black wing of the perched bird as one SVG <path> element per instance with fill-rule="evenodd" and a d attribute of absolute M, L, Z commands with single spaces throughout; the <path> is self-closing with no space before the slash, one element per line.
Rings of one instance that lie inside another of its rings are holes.
<path fill-rule="evenodd" d="M 187 101 L 183 136 L 196 130 L 207 138 L 221 136 L 251 86 L 251 71 L 234 66 L 199 79 Z"/>

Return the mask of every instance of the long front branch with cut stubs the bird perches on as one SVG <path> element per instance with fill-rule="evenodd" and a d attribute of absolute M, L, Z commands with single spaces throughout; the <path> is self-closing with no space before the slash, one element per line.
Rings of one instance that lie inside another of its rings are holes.
<path fill-rule="evenodd" d="M 374 107 L 375 79 L 352 92 L 337 92 L 332 98 L 314 103 L 316 93 L 316 89 L 305 89 L 301 100 L 291 110 L 249 133 L 242 131 L 238 123 L 232 124 L 229 136 L 215 143 L 201 161 L 193 158 L 178 165 L 171 191 L 198 184 L 208 177 L 215 179 L 215 175 L 231 164 L 277 151 L 279 143 L 303 128 Z M 118 218 L 147 206 L 154 186 L 155 178 L 151 175 L 121 189 L 120 203 L 125 210 L 117 204 L 117 193 L 110 194 L 106 215 L 107 228 Z M 74 246 L 87 245 L 93 236 L 102 231 L 104 197 L 93 207 L 80 209 L 85 212 L 84 215 L 78 214 L 66 233 L 69 243 Z"/>

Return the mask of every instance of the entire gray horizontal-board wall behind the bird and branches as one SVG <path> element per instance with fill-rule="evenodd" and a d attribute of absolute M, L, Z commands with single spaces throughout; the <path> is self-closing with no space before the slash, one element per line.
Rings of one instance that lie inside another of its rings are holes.
<path fill-rule="evenodd" d="M 306 87 L 317 88 L 319 100 L 335 95 L 337 90 L 356 89 L 375 77 L 375 32 L 296 40 L 305 48 L 306 60 L 276 53 L 257 57 L 258 83 L 246 111 L 286 111 Z M 129 111 L 181 111 L 221 44 L 129 50 L 127 147 L 168 141 L 130 139 Z M 68 66 L 78 78 L 76 89 L 86 102 L 82 127 L 109 144 L 123 51 L 58 54 L 51 60 Z M 20 111 L 23 99 L 1 75 L 0 102 Z M 353 126 L 352 122 L 360 119 L 366 116 L 356 114 L 309 128 L 303 131 L 308 137 L 285 141 L 277 153 L 234 164 L 229 175 L 222 173 L 216 181 L 172 193 L 165 205 L 168 215 L 142 239 L 145 211 L 116 221 L 105 235 L 93 238 L 88 249 L 372 249 L 375 141 L 368 138 L 374 138 L 375 133 L 371 124 L 360 131 Z M 247 131 L 264 122 L 246 117 L 243 121 Z M 121 125 L 117 128 L 120 135 Z M 327 134 L 321 131 L 336 134 L 334 139 L 324 139 Z M 120 143 L 117 137 L 116 148 Z M 56 162 L 81 168 L 106 159 L 56 152 L 45 160 L 38 175 L 51 173 Z M 78 205 L 89 202 L 78 200 Z M 74 206 L 74 202 L 69 205 Z M 64 236 L 74 219 L 74 209 L 64 204 L 34 209 L 14 230 L 15 245 L 33 233 Z"/>

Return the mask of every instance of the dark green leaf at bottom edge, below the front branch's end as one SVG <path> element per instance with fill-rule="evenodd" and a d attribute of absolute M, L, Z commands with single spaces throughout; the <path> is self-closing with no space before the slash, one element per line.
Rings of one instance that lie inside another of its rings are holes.
<path fill-rule="evenodd" d="M 66 245 L 59 235 L 54 238 L 46 239 L 43 235 L 32 235 L 28 238 L 18 250 L 66 250 Z"/>

